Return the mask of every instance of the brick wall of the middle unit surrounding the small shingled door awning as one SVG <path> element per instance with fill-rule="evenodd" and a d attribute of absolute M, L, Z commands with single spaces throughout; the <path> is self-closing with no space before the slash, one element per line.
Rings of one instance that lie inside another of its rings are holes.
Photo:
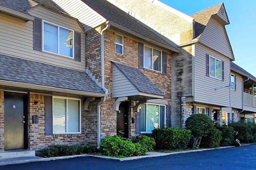
<path fill-rule="evenodd" d="M 120 33 L 119 33 L 120 34 Z M 112 99 L 112 62 L 119 62 L 138 68 L 139 66 L 139 42 L 124 36 L 124 55 L 115 53 L 115 33 L 113 31 L 106 31 L 104 34 L 104 52 L 105 52 L 105 87 L 109 90 L 109 95 L 106 97 L 106 102 L 101 107 L 101 134 L 102 138 L 108 135 L 116 135 L 116 121 L 117 113 L 113 112 Z M 161 49 L 160 49 L 161 50 Z M 165 93 L 164 99 L 171 104 L 171 54 L 167 54 L 167 73 L 163 75 L 157 71 L 149 69 L 140 69 L 152 82 Z M 131 124 L 131 117 L 135 117 L 133 111 L 134 101 L 130 101 L 129 111 L 129 135 L 135 136 L 135 124 Z"/>

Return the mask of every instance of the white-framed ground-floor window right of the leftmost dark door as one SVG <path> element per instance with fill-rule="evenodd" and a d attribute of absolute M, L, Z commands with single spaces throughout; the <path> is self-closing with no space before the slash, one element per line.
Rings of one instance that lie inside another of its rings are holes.
<path fill-rule="evenodd" d="M 81 132 L 81 101 L 53 97 L 53 133 Z"/>

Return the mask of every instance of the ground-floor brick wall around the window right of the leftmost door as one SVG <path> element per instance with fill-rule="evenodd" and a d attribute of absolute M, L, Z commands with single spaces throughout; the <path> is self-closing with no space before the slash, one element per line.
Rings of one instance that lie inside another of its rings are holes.
<path fill-rule="evenodd" d="M 38 101 L 35 105 L 34 101 Z M 45 135 L 45 95 L 30 93 L 30 113 L 28 127 L 28 148 L 30 150 L 41 150 L 56 144 L 96 144 L 97 143 L 97 121 L 96 106 L 93 102 L 88 112 L 82 112 L 81 134 L 54 134 Z M 39 123 L 32 123 L 32 116 L 39 117 Z"/>

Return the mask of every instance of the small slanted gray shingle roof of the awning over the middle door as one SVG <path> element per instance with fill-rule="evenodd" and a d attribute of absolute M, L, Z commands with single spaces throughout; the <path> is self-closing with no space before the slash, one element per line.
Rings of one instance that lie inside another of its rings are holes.
<path fill-rule="evenodd" d="M 138 68 L 126 66 L 124 64 L 119 64 L 114 62 L 114 64 L 119 68 L 122 73 L 127 77 L 127 79 L 134 84 L 140 92 L 150 93 L 155 95 L 164 96 L 165 94 L 159 90 L 159 88 L 151 82 L 146 75 L 144 75 Z"/>

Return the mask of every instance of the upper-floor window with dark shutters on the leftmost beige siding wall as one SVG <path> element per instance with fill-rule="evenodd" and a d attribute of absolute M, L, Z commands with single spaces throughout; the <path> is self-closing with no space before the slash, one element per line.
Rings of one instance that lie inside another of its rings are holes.
<path fill-rule="evenodd" d="M 43 51 L 74 58 L 74 31 L 43 21 Z"/>

